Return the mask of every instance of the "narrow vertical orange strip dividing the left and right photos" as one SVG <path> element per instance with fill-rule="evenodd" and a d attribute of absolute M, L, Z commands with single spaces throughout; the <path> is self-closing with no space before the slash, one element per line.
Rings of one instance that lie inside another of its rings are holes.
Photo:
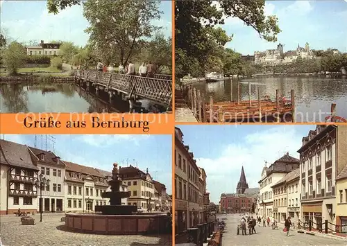
<path fill-rule="evenodd" d="M 173 121 L 172 126 L 171 124 L 171 134 L 172 134 L 172 181 L 171 181 L 171 193 L 172 193 L 172 245 L 175 245 L 175 220 L 176 220 L 176 208 L 175 208 L 175 0 L 172 1 L 172 30 L 171 30 L 171 36 L 172 36 L 172 115 Z"/>

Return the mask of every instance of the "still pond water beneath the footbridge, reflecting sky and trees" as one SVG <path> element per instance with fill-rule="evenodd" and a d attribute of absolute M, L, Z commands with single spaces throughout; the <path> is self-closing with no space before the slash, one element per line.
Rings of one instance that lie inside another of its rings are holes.
<path fill-rule="evenodd" d="M 149 100 L 140 100 L 137 112 L 158 112 Z M 53 82 L 8 83 L 0 85 L 0 109 L 2 113 L 17 112 L 88 112 L 112 113 L 129 112 L 127 100 L 113 96 L 110 100 L 105 91 L 96 96 L 95 89 L 86 91 L 85 87 L 74 84 L 56 84 Z"/>

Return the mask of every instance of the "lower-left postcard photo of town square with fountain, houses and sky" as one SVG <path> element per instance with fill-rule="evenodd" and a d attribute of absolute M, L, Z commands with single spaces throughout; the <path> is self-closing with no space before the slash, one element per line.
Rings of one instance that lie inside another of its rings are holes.
<path fill-rule="evenodd" d="M 0 143 L 2 245 L 172 244 L 170 135 Z"/>

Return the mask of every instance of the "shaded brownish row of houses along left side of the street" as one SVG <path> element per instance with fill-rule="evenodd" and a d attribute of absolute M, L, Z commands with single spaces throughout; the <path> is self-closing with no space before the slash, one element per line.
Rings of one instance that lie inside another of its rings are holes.
<path fill-rule="evenodd" d="M 175 128 L 175 227 L 176 234 L 208 220 L 210 193 L 207 175 L 196 165 L 193 152 L 183 141 L 183 132 Z"/>

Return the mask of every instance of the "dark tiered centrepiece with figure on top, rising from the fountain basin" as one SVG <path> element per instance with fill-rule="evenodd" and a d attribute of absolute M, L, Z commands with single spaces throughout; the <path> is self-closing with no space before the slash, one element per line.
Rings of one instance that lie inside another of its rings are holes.
<path fill-rule="evenodd" d="M 137 213 L 137 206 L 121 204 L 121 198 L 130 197 L 130 191 L 119 191 L 121 178 L 119 177 L 117 163 L 113 164 L 112 180 L 108 184 L 111 186 L 111 191 L 101 193 L 101 197 L 110 198 L 110 205 L 95 206 L 95 211 L 107 215 L 130 215 Z"/>

